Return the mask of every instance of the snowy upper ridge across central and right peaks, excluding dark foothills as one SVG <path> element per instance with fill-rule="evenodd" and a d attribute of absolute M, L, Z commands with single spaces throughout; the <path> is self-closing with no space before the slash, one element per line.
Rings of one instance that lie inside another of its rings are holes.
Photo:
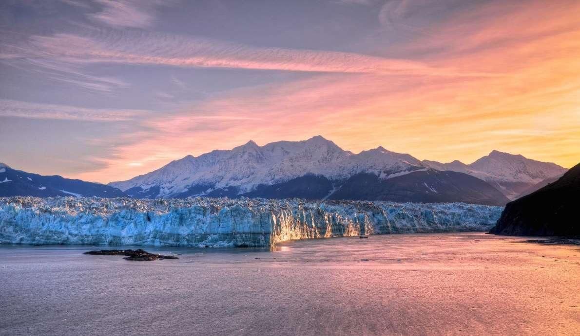
<path fill-rule="evenodd" d="M 303 141 L 278 141 L 263 146 L 248 141 L 231 150 L 212 150 L 197 157 L 189 155 L 152 172 L 109 185 L 127 191 L 133 197 L 144 194 L 148 197 L 237 197 L 256 194 L 255 191 L 264 186 L 286 183 L 307 175 L 324 176 L 334 186 L 358 173 L 372 173 L 379 180 L 386 180 L 427 169 L 461 172 L 485 180 L 508 200 L 519 195 L 517 191 L 566 171 L 556 164 L 497 150 L 472 164 L 463 164 L 458 160 L 447 164 L 420 161 L 410 154 L 390 152 L 383 146 L 355 154 L 318 135 Z M 300 183 L 305 180 L 301 179 Z M 324 188 L 329 185 L 320 179 L 311 180 L 324 184 Z M 419 182 L 425 181 L 418 180 L 417 190 L 421 190 Z M 487 187 L 484 189 L 487 190 Z M 318 190 L 317 195 L 321 192 Z M 263 193 L 260 191 L 258 194 Z M 303 191 L 299 194 L 305 195 Z"/>

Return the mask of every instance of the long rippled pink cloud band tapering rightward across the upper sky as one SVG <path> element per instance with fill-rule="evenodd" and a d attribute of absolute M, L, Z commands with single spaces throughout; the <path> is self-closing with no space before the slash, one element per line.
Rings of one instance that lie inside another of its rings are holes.
<path fill-rule="evenodd" d="M 216 40 L 149 32 L 34 36 L 19 46 L 22 57 L 60 61 L 156 64 L 173 67 L 242 68 L 303 72 L 381 73 L 388 75 L 485 76 L 423 62 L 338 51 L 254 47 Z M 13 56 L 10 51 L 3 57 Z"/>

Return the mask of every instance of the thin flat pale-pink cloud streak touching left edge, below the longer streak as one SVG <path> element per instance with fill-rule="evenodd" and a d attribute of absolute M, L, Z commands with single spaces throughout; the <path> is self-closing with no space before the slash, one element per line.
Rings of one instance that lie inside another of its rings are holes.
<path fill-rule="evenodd" d="M 0 117 L 31 119 L 128 121 L 144 117 L 150 112 L 133 109 L 88 109 L 76 106 L 37 104 L 31 102 L 0 99 Z"/>

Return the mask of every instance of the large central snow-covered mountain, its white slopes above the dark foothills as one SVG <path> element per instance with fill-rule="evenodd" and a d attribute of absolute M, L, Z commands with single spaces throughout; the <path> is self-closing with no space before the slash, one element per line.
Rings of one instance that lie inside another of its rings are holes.
<path fill-rule="evenodd" d="M 340 181 L 369 172 L 388 178 L 425 169 L 419 160 L 383 147 L 353 154 L 322 136 L 258 146 L 250 141 L 232 150 L 186 156 L 165 167 L 123 182 L 113 182 L 133 197 L 235 196 L 259 186 L 322 175 Z"/>

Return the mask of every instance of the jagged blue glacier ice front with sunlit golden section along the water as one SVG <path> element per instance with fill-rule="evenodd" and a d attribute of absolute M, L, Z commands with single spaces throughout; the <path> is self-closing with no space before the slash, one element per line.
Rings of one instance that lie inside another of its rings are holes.
<path fill-rule="evenodd" d="M 487 231 L 499 206 L 240 198 L 0 198 L 0 243 L 273 246 L 361 234 Z"/>

